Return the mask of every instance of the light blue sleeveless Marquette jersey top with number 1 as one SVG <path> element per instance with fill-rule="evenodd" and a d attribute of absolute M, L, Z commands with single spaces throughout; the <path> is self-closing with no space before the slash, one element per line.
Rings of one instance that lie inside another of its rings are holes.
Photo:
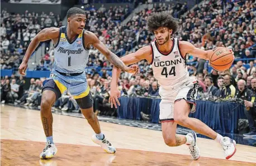
<path fill-rule="evenodd" d="M 64 73 L 80 73 L 86 69 L 89 50 L 84 47 L 83 32 L 70 42 L 67 37 L 67 27 L 60 27 L 59 39 L 54 46 L 53 72 L 56 70 Z"/>

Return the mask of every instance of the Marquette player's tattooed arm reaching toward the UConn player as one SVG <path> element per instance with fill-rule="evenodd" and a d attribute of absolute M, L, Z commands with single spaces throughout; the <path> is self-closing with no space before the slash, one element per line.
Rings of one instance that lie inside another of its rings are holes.
<path fill-rule="evenodd" d="M 111 62 L 114 66 L 130 73 L 135 73 L 136 70 L 132 67 L 127 67 L 121 59 L 115 55 L 115 53 L 108 50 L 108 48 L 102 43 L 94 33 L 86 31 L 86 40 L 87 40 L 87 47 L 88 45 L 92 45 L 93 47 L 97 48 L 106 58 L 108 61 Z"/>

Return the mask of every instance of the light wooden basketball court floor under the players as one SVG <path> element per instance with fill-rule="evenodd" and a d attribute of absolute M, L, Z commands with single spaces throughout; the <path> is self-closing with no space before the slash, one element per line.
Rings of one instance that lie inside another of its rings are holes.
<path fill-rule="evenodd" d="M 187 145 L 168 147 L 162 132 L 99 122 L 102 132 L 117 148 L 105 153 L 91 140 L 93 130 L 85 119 L 53 114 L 53 136 L 58 153 L 40 160 L 45 147 L 40 112 L 1 106 L 1 165 L 256 165 L 256 148 L 238 144 L 226 160 L 214 140 L 198 138 L 201 157 L 193 161 Z"/>

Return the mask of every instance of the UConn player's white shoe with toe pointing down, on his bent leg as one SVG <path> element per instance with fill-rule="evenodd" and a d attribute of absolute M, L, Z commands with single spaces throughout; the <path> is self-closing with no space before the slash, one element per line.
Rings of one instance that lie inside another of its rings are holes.
<path fill-rule="evenodd" d="M 194 131 L 191 131 L 190 133 L 187 134 L 187 136 L 190 136 L 192 138 L 192 143 L 190 145 L 187 144 L 189 147 L 189 152 L 191 154 L 191 157 L 193 160 L 197 160 L 198 158 L 200 158 L 200 150 L 196 145 L 196 139 L 197 139 L 196 133 Z"/>

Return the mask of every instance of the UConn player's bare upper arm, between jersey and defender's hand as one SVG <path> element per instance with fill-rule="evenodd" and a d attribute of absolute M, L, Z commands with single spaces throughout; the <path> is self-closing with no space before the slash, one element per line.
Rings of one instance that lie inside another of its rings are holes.
<path fill-rule="evenodd" d="M 135 64 L 136 62 L 139 62 L 141 60 L 147 60 L 148 62 L 151 62 L 152 56 L 150 56 L 151 53 L 151 47 L 145 46 L 140 48 L 138 51 L 134 53 L 130 53 L 124 57 L 121 58 L 121 60 L 125 63 L 125 65 L 131 65 Z"/>

